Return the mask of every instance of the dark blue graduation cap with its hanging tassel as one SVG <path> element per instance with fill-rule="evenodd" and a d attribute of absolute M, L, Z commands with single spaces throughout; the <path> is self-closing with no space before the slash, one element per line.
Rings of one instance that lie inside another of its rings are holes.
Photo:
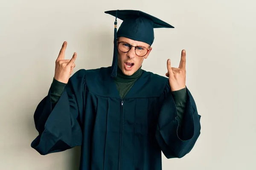
<path fill-rule="evenodd" d="M 122 24 L 117 30 L 117 20 L 114 25 L 114 54 L 112 62 L 111 77 L 116 77 L 117 70 L 117 43 L 118 37 L 126 37 L 135 41 L 145 42 L 148 45 L 152 45 L 154 41 L 154 28 L 174 28 L 170 24 L 137 10 L 112 10 L 105 11 L 106 14 L 110 14 L 114 17 L 122 20 Z"/>

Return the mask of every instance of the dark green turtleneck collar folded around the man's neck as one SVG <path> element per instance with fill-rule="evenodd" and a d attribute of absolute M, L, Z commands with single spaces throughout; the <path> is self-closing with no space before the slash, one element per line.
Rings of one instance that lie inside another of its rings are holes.
<path fill-rule="evenodd" d="M 117 75 L 115 77 L 115 81 L 116 82 L 133 82 L 133 81 L 137 80 L 142 73 L 141 67 L 131 76 L 127 76 L 127 75 L 123 74 L 121 69 L 119 67 L 117 67 Z"/>

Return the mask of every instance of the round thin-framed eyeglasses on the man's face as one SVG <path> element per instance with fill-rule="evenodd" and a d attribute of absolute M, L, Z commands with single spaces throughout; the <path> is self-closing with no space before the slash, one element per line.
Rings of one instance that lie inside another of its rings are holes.
<path fill-rule="evenodd" d="M 149 49 L 143 46 L 133 46 L 129 44 L 128 42 L 117 42 L 118 49 L 122 51 L 123 53 L 127 53 L 131 50 L 132 47 L 135 48 L 135 54 L 139 57 L 144 57 L 146 54 L 148 54 Z"/>

